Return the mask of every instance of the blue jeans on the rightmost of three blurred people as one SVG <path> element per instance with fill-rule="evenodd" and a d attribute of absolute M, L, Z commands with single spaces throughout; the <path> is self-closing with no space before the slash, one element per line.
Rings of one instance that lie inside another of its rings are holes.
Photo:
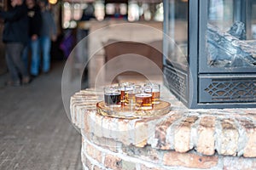
<path fill-rule="evenodd" d="M 43 54 L 43 72 L 48 72 L 50 67 L 50 38 L 48 36 L 40 37 L 40 47 Z"/>

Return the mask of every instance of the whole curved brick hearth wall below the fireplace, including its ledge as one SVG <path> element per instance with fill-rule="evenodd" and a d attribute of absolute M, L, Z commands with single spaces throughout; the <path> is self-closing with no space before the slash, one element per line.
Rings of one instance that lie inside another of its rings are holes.
<path fill-rule="evenodd" d="M 99 96 L 83 90 L 71 99 L 84 169 L 256 169 L 255 109 L 172 107 L 166 116 L 125 120 L 96 114 Z"/>

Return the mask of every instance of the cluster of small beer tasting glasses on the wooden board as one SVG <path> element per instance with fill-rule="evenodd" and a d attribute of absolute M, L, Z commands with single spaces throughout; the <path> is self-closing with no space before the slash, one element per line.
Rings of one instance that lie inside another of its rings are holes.
<path fill-rule="evenodd" d="M 160 84 L 150 82 L 142 86 L 123 82 L 104 87 L 104 102 L 107 107 L 131 106 L 137 110 L 150 110 L 160 104 Z"/>

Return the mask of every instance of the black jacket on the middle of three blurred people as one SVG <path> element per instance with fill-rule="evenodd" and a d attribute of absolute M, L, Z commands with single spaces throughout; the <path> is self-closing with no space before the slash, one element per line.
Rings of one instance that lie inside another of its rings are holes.
<path fill-rule="evenodd" d="M 33 8 L 28 8 L 27 16 L 29 20 L 29 36 L 32 37 L 34 34 L 40 36 L 42 15 L 39 6 L 36 5 Z"/>

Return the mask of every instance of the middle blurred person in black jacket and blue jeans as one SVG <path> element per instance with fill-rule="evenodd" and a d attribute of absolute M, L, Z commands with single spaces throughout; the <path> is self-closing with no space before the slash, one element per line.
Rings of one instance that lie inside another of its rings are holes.
<path fill-rule="evenodd" d="M 32 77 L 37 77 L 39 73 L 39 62 L 40 62 L 40 55 L 39 55 L 39 36 L 42 26 L 42 16 L 41 10 L 36 3 L 36 0 L 26 0 L 26 6 L 28 8 L 27 16 L 28 16 L 28 33 L 30 37 L 30 41 L 26 45 L 26 48 L 23 53 L 23 60 L 25 65 L 28 65 L 28 52 L 31 49 L 32 60 L 31 60 L 31 67 L 30 73 Z M 27 67 L 28 68 L 28 67 Z"/>

